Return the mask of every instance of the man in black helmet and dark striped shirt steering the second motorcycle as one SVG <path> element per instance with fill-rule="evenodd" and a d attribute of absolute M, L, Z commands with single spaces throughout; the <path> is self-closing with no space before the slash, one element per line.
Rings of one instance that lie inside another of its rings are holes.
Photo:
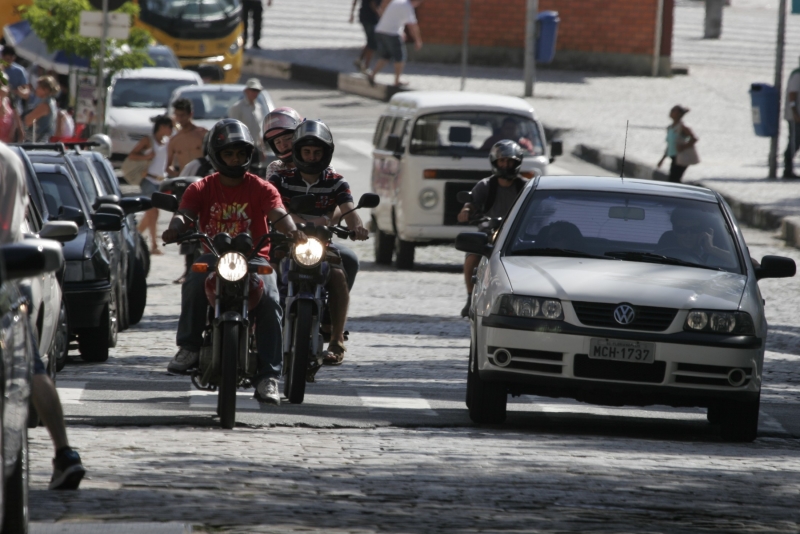
<path fill-rule="evenodd" d="M 292 158 L 295 168 L 272 174 L 269 181 L 281 194 L 283 202 L 288 204 L 292 197 L 298 195 L 314 195 L 316 207 L 309 213 L 292 214 L 295 222 L 330 225 L 335 209 L 347 213 L 355 206 L 350 186 L 341 174 L 329 167 L 333 158 L 333 136 L 325 123 L 307 120 L 295 130 L 292 138 Z M 347 228 L 353 232 L 353 239 L 369 238 L 369 231 L 364 228 L 361 217 L 352 211 L 344 217 Z M 336 250 L 342 261 L 340 265 L 331 262 L 334 269 L 326 288 L 329 292 L 330 307 L 330 343 L 324 363 L 338 365 L 344 359 L 344 326 L 347 322 L 347 307 L 350 302 L 350 288 L 355 281 L 358 268 L 358 257 L 353 251 L 336 243 L 329 250 Z M 347 259 L 345 259 L 347 258 Z M 348 265 L 355 269 L 348 270 Z M 325 332 L 325 325 L 323 325 Z"/>

